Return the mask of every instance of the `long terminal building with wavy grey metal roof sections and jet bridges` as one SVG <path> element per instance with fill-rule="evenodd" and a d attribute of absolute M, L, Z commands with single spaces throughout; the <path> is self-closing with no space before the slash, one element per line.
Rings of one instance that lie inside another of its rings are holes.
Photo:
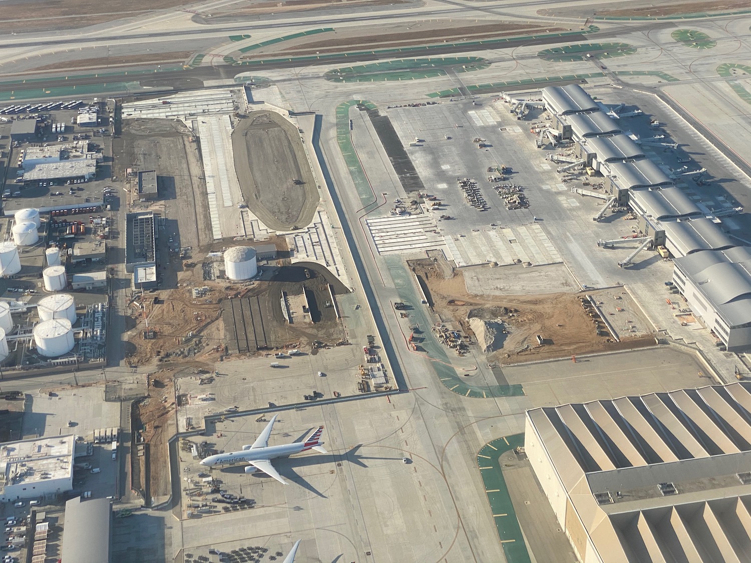
<path fill-rule="evenodd" d="M 721 219 L 675 184 L 675 174 L 647 158 L 639 145 L 647 140 L 623 131 L 581 86 L 548 86 L 542 98 L 554 128 L 548 133 L 572 141 L 578 159 L 558 171 L 585 166 L 605 176 L 609 197 L 595 220 L 613 203 L 631 206 L 644 244 L 673 257 L 672 281 L 695 318 L 728 350 L 751 347 L 751 248 L 733 242 Z M 544 131 L 538 146 L 543 139 Z"/>

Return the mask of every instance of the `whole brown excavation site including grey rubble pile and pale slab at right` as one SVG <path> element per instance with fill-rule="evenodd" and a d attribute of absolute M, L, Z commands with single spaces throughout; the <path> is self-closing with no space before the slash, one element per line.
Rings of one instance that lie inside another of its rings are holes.
<path fill-rule="evenodd" d="M 488 362 L 523 363 L 654 343 L 647 321 L 623 288 L 587 294 L 475 295 L 467 293 L 463 271 L 451 269 L 445 260 L 412 260 L 409 266 L 427 287 L 436 322 L 460 327 Z M 600 315 L 590 316 L 596 309 L 588 301 L 585 309 L 582 300 L 587 295 L 600 303 L 602 316 L 621 342 Z"/>

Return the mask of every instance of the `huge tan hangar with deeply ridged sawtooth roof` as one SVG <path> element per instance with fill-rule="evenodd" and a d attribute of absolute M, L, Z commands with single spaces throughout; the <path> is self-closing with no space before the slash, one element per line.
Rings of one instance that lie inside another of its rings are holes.
<path fill-rule="evenodd" d="M 524 447 L 583 563 L 751 560 L 749 383 L 536 408 Z"/>

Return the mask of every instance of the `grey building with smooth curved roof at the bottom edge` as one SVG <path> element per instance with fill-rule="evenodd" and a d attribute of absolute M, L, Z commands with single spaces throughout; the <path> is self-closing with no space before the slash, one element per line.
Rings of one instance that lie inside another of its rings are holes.
<path fill-rule="evenodd" d="M 62 561 L 110 563 L 112 561 L 112 504 L 107 498 L 65 503 L 62 528 Z"/>

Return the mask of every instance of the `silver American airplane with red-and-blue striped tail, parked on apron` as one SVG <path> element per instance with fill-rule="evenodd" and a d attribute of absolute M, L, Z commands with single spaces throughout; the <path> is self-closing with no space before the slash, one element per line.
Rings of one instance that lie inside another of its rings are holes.
<path fill-rule="evenodd" d="M 291 444 L 283 444 L 282 446 L 270 446 L 269 436 L 271 429 L 276 422 L 274 415 L 270 422 L 258 436 L 252 446 L 243 446 L 243 450 L 239 452 L 230 453 L 217 453 L 216 456 L 208 456 L 206 459 L 201 459 L 201 465 L 207 465 L 210 468 L 222 467 L 224 465 L 237 465 L 238 463 L 248 463 L 250 467 L 245 468 L 246 473 L 253 473 L 255 469 L 262 471 L 269 477 L 273 477 L 279 483 L 287 484 L 282 476 L 271 465 L 271 460 L 275 457 L 287 457 L 293 453 L 305 452 L 307 450 L 315 450 L 321 453 L 328 453 L 321 447 L 322 441 L 319 441 L 321 434 L 324 432 L 323 426 L 318 426 L 318 429 L 313 431 L 311 435 L 303 442 L 292 442 Z"/>

